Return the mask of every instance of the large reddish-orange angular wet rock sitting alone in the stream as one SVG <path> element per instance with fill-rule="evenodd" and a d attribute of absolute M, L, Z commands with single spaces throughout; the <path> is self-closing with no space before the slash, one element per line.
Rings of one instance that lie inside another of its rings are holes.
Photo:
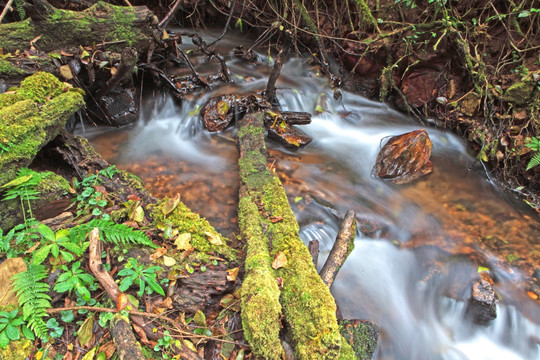
<path fill-rule="evenodd" d="M 425 130 L 392 137 L 381 149 L 373 172 L 395 184 L 405 184 L 433 170 L 431 140 Z"/>

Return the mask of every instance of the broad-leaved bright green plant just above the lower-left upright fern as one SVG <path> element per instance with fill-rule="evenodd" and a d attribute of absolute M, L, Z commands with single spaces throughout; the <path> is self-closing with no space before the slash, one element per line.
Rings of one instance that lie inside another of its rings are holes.
<path fill-rule="evenodd" d="M 55 258 L 62 255 L 67 262 L 73 261 L 73 254 L 77 256 L 83 254 L 83 249 L 79 245 L 71 242 L 68 237 L 68 229 L 61 229 L 54 233 L 50 227 L 44 224 L 39 224 L 37 228 L 42 236 L 43 243 L 40 244 L 39 249 L 34 252 L 33 262 L 35 264 L 41 264 L 47 259 L 49 254 Z"/>

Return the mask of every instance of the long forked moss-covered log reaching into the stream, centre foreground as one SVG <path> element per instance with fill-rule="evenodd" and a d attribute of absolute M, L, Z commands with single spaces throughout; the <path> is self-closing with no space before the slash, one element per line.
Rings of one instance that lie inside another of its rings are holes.
<path fill-rule="evenodd" d="M 279 358 L 283 313 L 298 359 L 353 359 L 339 333 L 334 298 L 300 240 L 281 182 L 267 167 L 263 114 L 247 115 L 239 125 L 238 220 L 247 242 L 242 285 L 246 339 L 256 356 Z M 277 256 L 280 264 L 272 266 Z"/>

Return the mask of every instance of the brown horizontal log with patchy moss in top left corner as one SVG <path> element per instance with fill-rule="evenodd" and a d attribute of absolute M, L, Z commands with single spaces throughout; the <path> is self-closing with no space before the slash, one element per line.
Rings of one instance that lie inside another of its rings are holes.
<path fill-rule="evenodd" d="M 104 1 L 81 11 L 60 10 L 44 0 L 28 6 L 30 18 L 0 25 L 0 48 L 4 52 L 34 47 L 42 51 L 101 43 L 144 51 L 157 25 L 146 6 L 114 6 Z"/>

